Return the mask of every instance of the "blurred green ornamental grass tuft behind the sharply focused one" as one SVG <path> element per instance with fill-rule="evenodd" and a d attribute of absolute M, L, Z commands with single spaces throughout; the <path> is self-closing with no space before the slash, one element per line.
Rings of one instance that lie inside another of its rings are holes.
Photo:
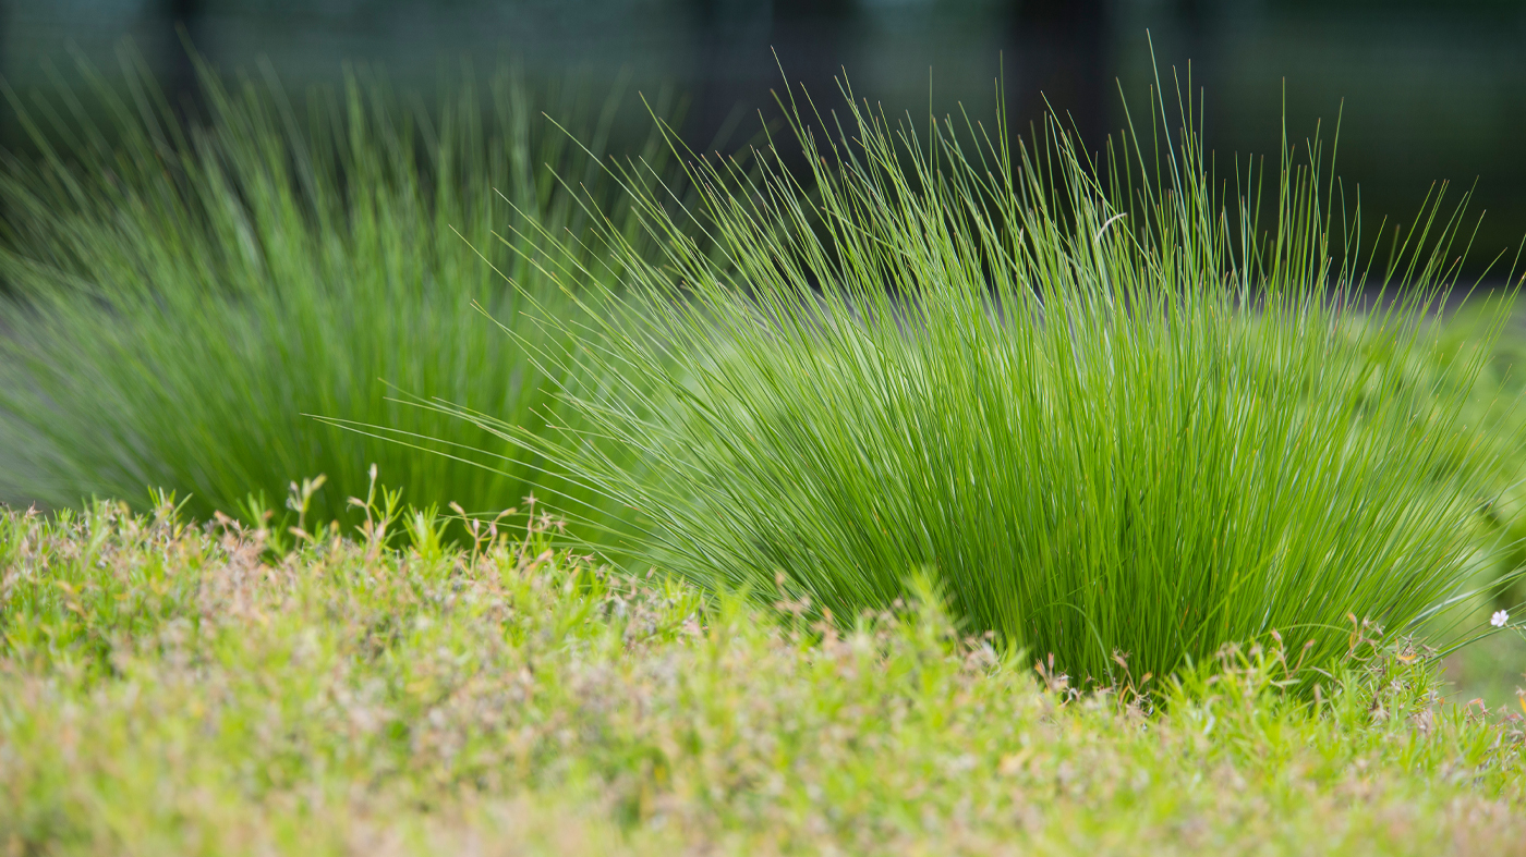
<path fill-rule="evenodd" d="M 131 67 L 127 95 L 87 79 L 96 111 L 63 85 L 11 93 L 40 154 L 0 169 L 0 497 L 63 508 L 165 488 L 203 518 L 273 511 L 311 529 L 351 512 L 372 464 L 420 505 L 467 509 L 549 479 L 534 459 L 497 457 L 510 450 L 470 422 L 391 400 L 441 396 L 526 427 L 575 418 L 482 316 L 555 348 L 520 308 L 571 322 L 566 279 L 549 284 L 491 236 L 597 268 L 563 183 L 612 201 L 617 229 L 618 200 L 540 110 L 597 156 L 618 95 L 464 72 L 429 107 L 365 70 L 305 99 L 273 75 L 203 73 L 183 120 Z M 291 480 L 319 474 L 304 514 L 279 506 Z"/>

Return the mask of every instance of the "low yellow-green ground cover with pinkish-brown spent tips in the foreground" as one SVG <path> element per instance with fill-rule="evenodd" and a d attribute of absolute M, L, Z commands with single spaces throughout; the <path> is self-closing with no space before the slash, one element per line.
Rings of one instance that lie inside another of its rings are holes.
<path fill-rule="evenodd" d="M 168 505 L 5 514 L 0 852 L 1526 852 L 1520 732 L 1402 650 L 1317 712 L 1239 651 L 1146 714 L 926 587 L 797 627 L 549 525 L 276 557 Z"/>

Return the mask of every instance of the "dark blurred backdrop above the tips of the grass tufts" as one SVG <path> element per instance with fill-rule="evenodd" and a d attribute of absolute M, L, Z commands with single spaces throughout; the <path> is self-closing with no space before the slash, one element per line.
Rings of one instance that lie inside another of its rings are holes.
<path fill-rule="evenodd" d="M 1144 102 L 1149 30 L 1163 69 L 1190 59 L 1206 84 L 1206 139 L 1227 175 L 1235 152 L 1277 151 L 1286 98 L 1296 140 L 1344 113 L 1338 168 L 1369 223 L 1408 220 L 1436 180 L 1482 178 L 1474 267 L 1526 233 L 1526 5 L 1514 0 L 3 0 L 0 73 L 24 91 L 49 66 L 67 75 L 70 50 L 111 67 L 130 37 L 194 104 L 179 30 L 217 67 L 267 58 L 295 87 L 333 81 L 349 59 L 429 88 L 461 55 L 667 84 L 690 98 L 696 146 L 751 136 L 780 66 L 829 96 L 845 67 L 891 110 L 923 110 L 931 81 L 938 113 L 964 102 L 975 114 L 989 114 L 1000 69 L 1015 128 L 1048 98 L 1100 140 L 1123 120 L 1114 81 Z M 5 122 L 0 142 L 15 148 Z"/>

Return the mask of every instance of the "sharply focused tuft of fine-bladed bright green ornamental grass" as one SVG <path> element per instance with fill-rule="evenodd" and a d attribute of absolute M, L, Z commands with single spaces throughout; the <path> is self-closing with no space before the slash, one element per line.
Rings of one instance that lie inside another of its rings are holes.
<path fill-rule="evenodd" d="M 624 169 L 664 256 L 627 247 L 621 311 L 545 360 L 655 393 L 569 390 L 588 433 L 478 421 L 639 514 L 642 560 L 842 622 L 928 573 L 967 633 L 1076 680 L 1273 637 L 1317 679 L 1459 595 L 1488 337 L 1450 357 L 1463 381 L 1404 368 L 1460 209 L 1427 200 L 1373 264 L 1317 139 L 1262 188 L 1250 160 L 1215 178 L 1163 98 L 1093 157 L 1058 120 L 1009 146 L 1000 117 L 845 93 L 832 120 L 786 105 L 804 178 L 775 143 L 696 156 L 682 207 Z"/>

